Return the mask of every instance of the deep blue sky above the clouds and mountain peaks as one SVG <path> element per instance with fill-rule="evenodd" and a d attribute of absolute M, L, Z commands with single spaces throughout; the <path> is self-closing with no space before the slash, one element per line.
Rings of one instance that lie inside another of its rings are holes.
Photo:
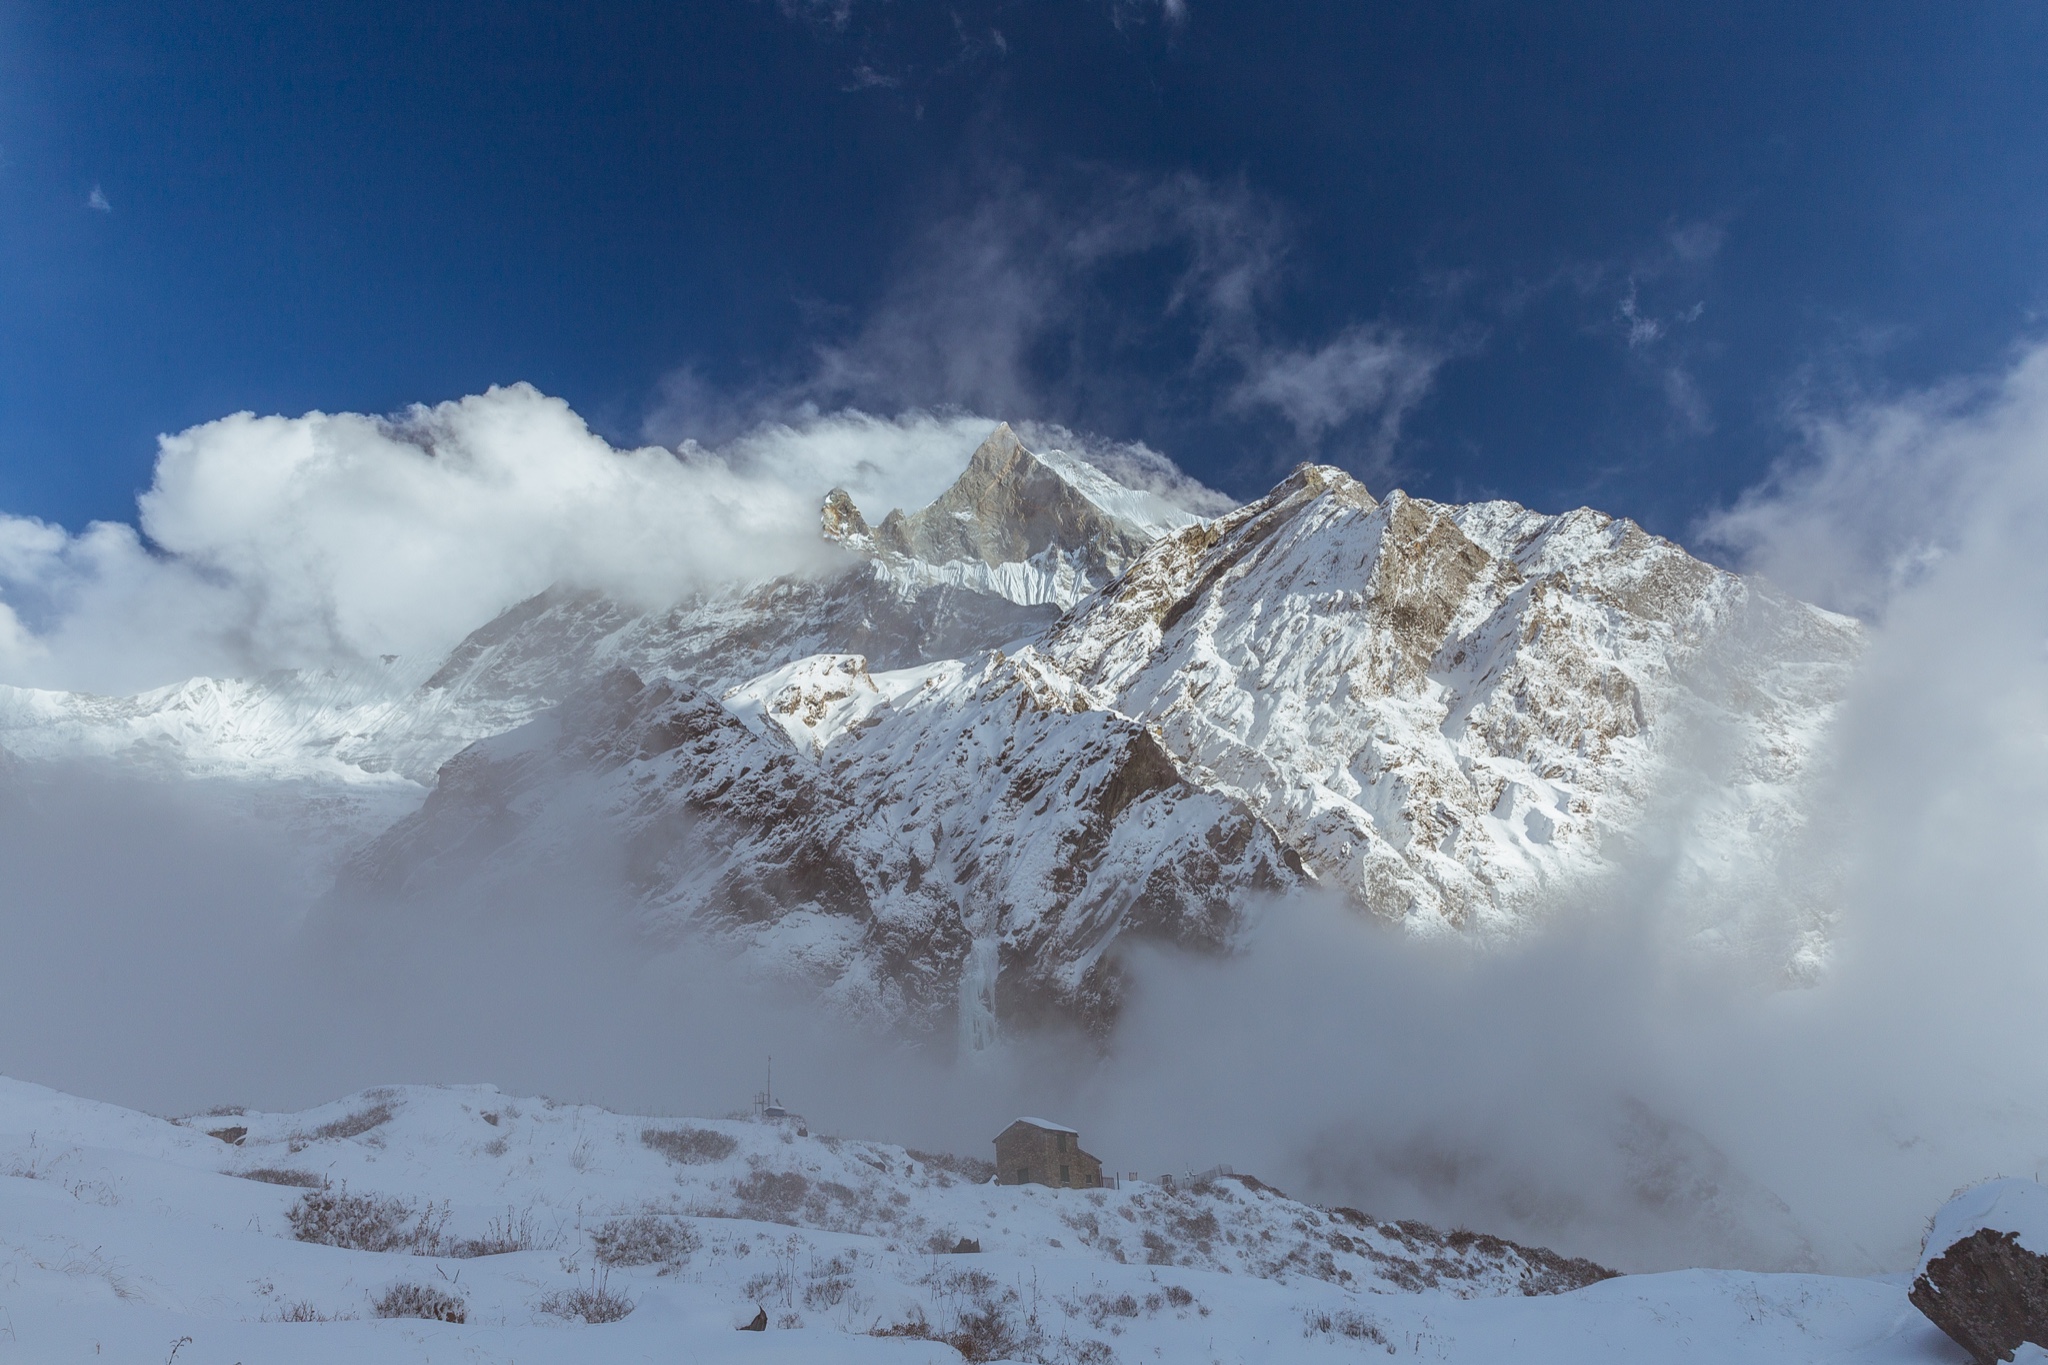
<path fill-rule="evenodd" d="M 16 2 L 0 63 L 0 510 L 74 528 L 164 430 L 524 379 L 616 440 L 954 401 L 1681 536 L 1788 409 L 2048 307 L 2032 0 Z M 1348 327 L 1440 360 L 1391 446 L 1233 401 Z"/>

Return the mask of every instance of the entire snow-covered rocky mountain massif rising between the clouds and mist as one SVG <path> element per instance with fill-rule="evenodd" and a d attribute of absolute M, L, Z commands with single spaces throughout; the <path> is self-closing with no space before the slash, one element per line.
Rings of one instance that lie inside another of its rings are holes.
<path fill-rule="evenodd" d="M 1198 520 L 1008 426 L 920 512 L 825 495 L 823 534 L 823 573 L 651 614 L 557 589 L 432 663 L 6 690 L 0 745 L 350 792 L 342 902 L 596 827 L 645 931 L 975 1046 L 1108 1027 L 1124 943 L 1227 950 L 1268 892 L 1513 933 L 1651 837 L 1722 894 L 1702 933 L 1753 935 L 1860 647 L 1597 512 L 1303 467 Z"/>

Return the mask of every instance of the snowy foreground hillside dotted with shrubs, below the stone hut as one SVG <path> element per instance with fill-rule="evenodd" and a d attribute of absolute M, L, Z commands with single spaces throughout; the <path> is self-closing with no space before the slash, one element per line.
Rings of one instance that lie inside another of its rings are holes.
<path fill-rule="evenodd" d="M 1606 1277 L 1243 1177 L 985 1179 L 492 1087 L 166 1121 L 0 1078 L 0 1361 L 1966 1359 L 1903 1277 Z"/>

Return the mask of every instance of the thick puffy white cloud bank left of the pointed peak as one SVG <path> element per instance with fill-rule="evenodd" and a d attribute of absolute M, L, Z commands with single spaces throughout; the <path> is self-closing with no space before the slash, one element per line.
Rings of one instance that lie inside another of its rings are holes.
<path fill-rule="evenodd" d="M 436 655 L 551 583 L 672 602 L 807 563 L 834 485 L 930 499 L 989 426 L 809 413 L 719 450 L 614 450 L 526 385 L 395 422 L 221 417 L 162 440 L 147 540 L 0 514 L 0 681 L 129 692 Z"/>

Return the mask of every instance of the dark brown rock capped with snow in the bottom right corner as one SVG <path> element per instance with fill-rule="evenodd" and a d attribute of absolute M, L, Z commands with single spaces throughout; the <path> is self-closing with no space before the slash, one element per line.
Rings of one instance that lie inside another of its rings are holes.
<path fill-rule="evenodd" d="M 1980 1365 L 2048 1347 L 2048 1187 L 1987 1181 L 1942 1205 L 1909 1297 Z"/>

